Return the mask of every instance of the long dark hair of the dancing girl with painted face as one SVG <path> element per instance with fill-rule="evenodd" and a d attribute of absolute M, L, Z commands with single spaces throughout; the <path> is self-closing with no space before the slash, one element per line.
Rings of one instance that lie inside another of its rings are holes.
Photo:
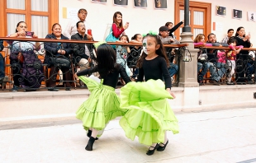
<path fill-rule="evenodd" d="M 158 54 L 159 56 L 163 57 L 167 63 L 167 66 L 169 66 L 169 60 L 168 60 L 168 57 L 167 57 L 167 54 L 166 54 L 166 50 L 164 49 L 164 44 L 162 43 L 159 35 L 151 35 L 151 34 L 147 34 L 145 35 L 145 37 L 143 39 L 145 39 L 146 37 L 154 37 L 155 39 L 155 44 L 156 45 L 160 45 L 159 49 L 157 49 L 155 51 L 155 54 Z M 143 65 L 143 61 L 144 59 L 147 57 L 147 54 L 145 54 L 145 52 L 143 52 L 137 62 L 137 67 L 138 68 L 142 68 L 142 65 Z"/>

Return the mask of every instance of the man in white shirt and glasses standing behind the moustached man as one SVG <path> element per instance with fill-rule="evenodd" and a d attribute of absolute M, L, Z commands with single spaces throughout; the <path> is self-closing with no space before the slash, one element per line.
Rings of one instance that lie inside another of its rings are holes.
<path fill-rule="evenodd" d="M 81 8 L 78 11 L 78 19 L 69 21 L 69 24 L 68 24 L 68 26 L 66 26 L 66 29 L 64 30 L 63 35 L 65 35 L 66 37 L 68 37 L 70 39 L 71 35 L 76 34 L 78 32 L 77 26 L 76 26 L 78 21 L 83 21 L 83 24 L 85 25 L 85 29 L 91 30 L 91 27 L 88 24 L 88 21 L 86 21 L 87 15 L 88 15 L 87 10 L 85 10 L 84 8 Z M 87 31 L 85 33 L 87 34 Z M 87 37 L 88 37 L 88 40 L 90 40 L 92 38 L 92 35 L 87 35 Z"/>

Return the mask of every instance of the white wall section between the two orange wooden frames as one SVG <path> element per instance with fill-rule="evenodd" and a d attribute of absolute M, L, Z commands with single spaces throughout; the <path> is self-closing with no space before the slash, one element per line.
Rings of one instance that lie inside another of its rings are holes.
<path fill-rule="evenodd" d="M 106 4 L 91 2 L 91 0 L 59 0 L 59 24 L 64 30 L 69 19 L 63 18 L 63 7 L 85 8 L 88 11 L 87 21 L 92 27 L 94 40 L 103 40 L 107 24 L 111 24 L 115 12 L 121 12 L 123 23 L 130 22 L 126 35 L 131 38 L 140 33 L 146 34 L 149 30 L 159 31 L 160 26 L 164 26 L 167 21 L 173 21 L 173 0 L 168 0 L 168 9 L 155 10 L 154 0 L 148 0 L 147 8 L 135 8 L 133 0 L 129 0 L 127 7 L 116 6 L 113 0 L 107 0 Z M 170 7 L 172 6 L 172 7 Z"/>

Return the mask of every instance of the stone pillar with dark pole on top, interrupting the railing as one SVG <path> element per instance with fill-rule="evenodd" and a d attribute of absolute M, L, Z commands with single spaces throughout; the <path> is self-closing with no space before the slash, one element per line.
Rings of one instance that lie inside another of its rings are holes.
<path fill-rule="evenodd" d="M 189 26 L 189 0 L 184 0 L 184 27 L 180 35 L 182 44 L 188 44 L 186 49 L 191 54 L 190 62 L 180 61 L 179 87 L 183 87 L 183 111 L 199 107 L 199 84 L 197 82 L 197 51 L 194 49 L 191 27 Z M 185 58 L 185 54 L 183 54 Z"/>

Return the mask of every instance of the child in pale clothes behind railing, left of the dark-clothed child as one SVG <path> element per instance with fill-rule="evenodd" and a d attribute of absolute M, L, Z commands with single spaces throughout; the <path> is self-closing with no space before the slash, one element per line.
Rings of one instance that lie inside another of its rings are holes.
<path fill-rule="evenodd" d="M 116 42 L 129 43 L 127 35 L 121 35 L 120 39 Z M 116 46 L 116 63 L 120 63 L 125 69 L 128 77 L 130 77 L 130 68 L 127 66 L 127 56 L 130 54 L 129 46 L 117 45 Z"/>

